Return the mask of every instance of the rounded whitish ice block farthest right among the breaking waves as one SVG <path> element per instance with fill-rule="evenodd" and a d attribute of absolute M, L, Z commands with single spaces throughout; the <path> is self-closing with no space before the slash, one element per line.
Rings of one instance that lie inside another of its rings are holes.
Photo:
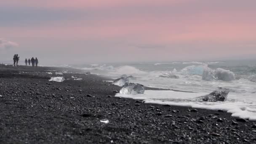
<path fill-rule="evenodd" d="M 215 75 L 216 75 L 216 77 L 218 77 L 218 80 L 224 80 L 224 81 L 235 80 L 235 74 L 234 74 L 234 72 L 231 72 L 230 70 L 217 68 L 215 71 Z"/>

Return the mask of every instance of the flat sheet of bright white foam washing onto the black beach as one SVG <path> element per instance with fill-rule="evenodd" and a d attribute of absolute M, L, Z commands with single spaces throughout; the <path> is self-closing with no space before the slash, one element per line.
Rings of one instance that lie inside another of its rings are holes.
<path fill-rule="evenodd" d="M 144 100 L 145 103 L 169 104 L 173 106 L 192 107 L 200 109 L 222 109 L 232 113 L 233 117 L 240 117 L 256 121 L 256 98 L 254 96 L 229 95 L 227 101 L 199 102 L 192 98 L 204 96 L 208 93 L 185 93 L 177 91 L 145 91 L 144 94 L 125 95 L 117 93 L 117 97 Z"/>

